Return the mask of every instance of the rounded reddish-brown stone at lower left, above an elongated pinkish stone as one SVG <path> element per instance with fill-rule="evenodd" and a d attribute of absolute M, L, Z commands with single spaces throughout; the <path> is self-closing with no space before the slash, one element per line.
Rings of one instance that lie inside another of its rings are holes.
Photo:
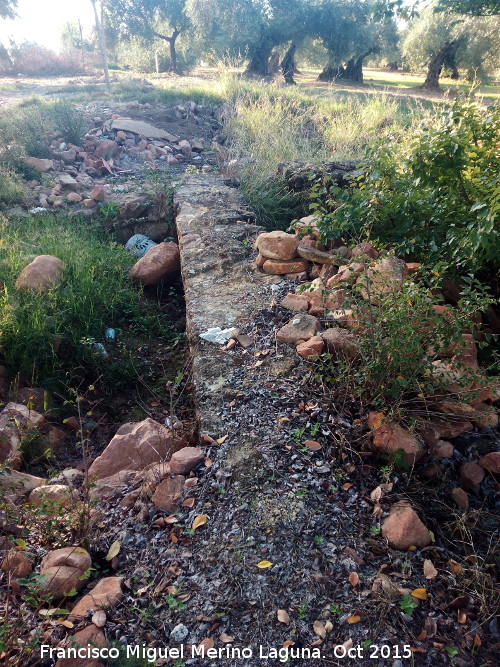
<path fill-rule="evenodd" d="M 65 547 L 51 551 L 40 565 L 40 574 L 46 575 L 41 583 L 45 593 L 60 599 L 73 588 L 80 589 L 84 573 L 92 565 L 89 554 L 81 547 Z"/>

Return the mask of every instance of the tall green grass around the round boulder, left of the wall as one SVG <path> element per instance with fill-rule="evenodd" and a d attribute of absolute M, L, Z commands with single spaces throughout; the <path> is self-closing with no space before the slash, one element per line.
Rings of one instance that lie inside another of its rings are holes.
<path fill-rule="evenodd" d="M 66 374 L 95 379 L 104 373 L 108 381 L 114 374 L 114 381 L 123 381 L 126 359 L 104 358 L 93 343 L 104 342 L 106 327 L 140 315 L 140 292 L 127 276 L 129 253 L 77 219 L 0 218 L 0 234 L 0 343 L 9 371 L 46 386 Z M 14 283 L 21 269 L 40 254 L 64 262 L 61 286 L 47 294 L 18 292 Z"/>

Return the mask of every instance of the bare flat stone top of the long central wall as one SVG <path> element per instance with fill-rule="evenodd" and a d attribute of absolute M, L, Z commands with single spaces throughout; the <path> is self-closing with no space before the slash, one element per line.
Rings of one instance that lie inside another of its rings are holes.
<path fill-rule="evenodd" d="M 221 345 L 200 335 L 214 327 L 243 327 L 262 307 L 263 288 L 280 278 L 255 266 L 249 248 L 263 229 L 240 192 L 221 177 L 186 175 L 174 198 L 197 414 L 202 432 L 220 437 L 222 390 L 236 369 Z"/>

